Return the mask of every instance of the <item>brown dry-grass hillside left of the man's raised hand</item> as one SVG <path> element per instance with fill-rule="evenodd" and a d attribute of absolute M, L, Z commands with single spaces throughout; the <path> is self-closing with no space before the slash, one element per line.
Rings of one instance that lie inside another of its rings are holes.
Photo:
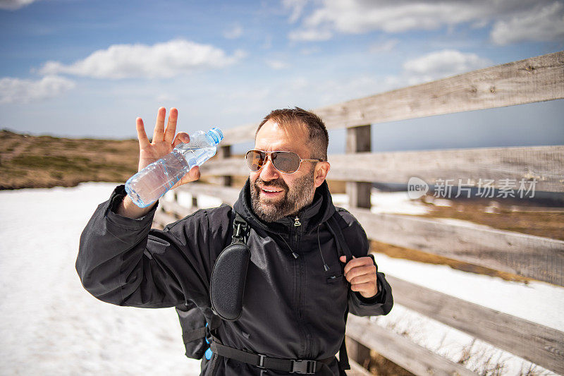
<path fill-rule="evenodd" d="M 126 181 L 137 171 L 137 140 L 92 140 L 0 131 L 0 189 Z"/>

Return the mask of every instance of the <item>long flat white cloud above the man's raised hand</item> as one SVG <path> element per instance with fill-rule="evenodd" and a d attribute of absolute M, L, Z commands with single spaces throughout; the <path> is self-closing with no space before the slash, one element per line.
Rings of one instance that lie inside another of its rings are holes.
<path fill-rule="evenodd" d="M 94 51 L 69 65 L 47 61 L 42 74 L 66 73 L 92 78 L 171 78 L 199 69 L 221 68 L 245 56 L 236 51 L 228 56 L 210 44 L 171 40 L 153 44 L 114 44 Z"/>

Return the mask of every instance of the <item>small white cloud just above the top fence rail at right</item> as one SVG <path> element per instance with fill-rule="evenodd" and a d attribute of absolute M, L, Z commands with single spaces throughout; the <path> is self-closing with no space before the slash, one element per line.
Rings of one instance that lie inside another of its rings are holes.
<path fill-rule="evenodd" d="M 491 65 L 491 61 L 477 54 L 465 54 L 455 49 L 431 52 L 403 63 L 403 75 L 407 83 L 436 80 L 450 75 L 474 71 Z"/>

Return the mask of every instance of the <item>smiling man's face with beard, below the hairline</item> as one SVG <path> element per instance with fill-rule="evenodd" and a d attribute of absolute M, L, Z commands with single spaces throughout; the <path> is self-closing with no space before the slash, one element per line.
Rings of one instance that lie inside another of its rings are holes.
<path fill-rule="evenodd" d="M 291 128 L 291 129 L 288 129 Z M 305 126 L 281 128 L 266 121 L 255 140 L 255 149 L 266 152 L 283 150 L 309 158 L 308 133 Z M 293 174 L 278 171 L 270 159 L 259 171 L 250 173 L 252 209 L 265 222 L 275 222 L 296 214 L 312 202 L 315 192 L 314 163 L 302 162 Z"/>

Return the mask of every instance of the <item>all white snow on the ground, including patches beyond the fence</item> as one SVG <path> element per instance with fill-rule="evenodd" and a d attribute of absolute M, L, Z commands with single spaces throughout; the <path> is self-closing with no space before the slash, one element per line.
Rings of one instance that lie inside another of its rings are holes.
<path fill-rule="evenodd" d="M 184 356 L 173 308 L 124 308 L 97 301 L 75 271 L 80 233 L 117 183 L 74 188 L 0 191 L 0 375 L 199 375 L 200 362 Z M 387 195 L 387 196 L 386 196 Z M 191 197 L 179 197 L 188 206 Z M 217 205 L 216 199 L 202 201 Z M 336 205 L 346 196 L 333 195 Z M 376 210 L 419 214 L 405 193 L 375 193 Z M 444 265 L 376 253 L 379 270 L 429 289 L 564 331 L 564 289 L 543 282 L 503 281 Z M 396 304 L 378 325 L 457 361 L 472 337 Z M 501 375 L 520 375 L 529 364 L 482 341 L 472 344 L 469 366 L 504 361 Z M 491 364 L 490 364 L 491 366 Z M 552 375 L 535 368 L 543 375 Z"/>

